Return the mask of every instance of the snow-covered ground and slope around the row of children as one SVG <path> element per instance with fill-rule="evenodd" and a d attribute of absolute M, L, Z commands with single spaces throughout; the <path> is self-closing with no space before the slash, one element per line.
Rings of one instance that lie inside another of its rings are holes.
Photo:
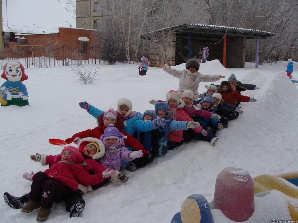
<path fill-rule="evenodd" d="M 199 71 L 203 74 L 225 75 L 222 81 L 235 73 L 243 83 L 260 87 L 242 93 L 257 101 L 241 103 L 244 113 L 229 122 L 229 128 L 218 131 L 217 145 L 202 141 L 185 143 L 148 166 L 128 172 L 127 183 L 109 183 L 84 195 L 86 206 L 79 218 L 69 218 L 64 202 L 54 203 L 47 222 L 170 222 L 190 194 L 203 194 L 212 201 L 216 176 L 225 167 L 246 169 L 252 177 L 297 171 L 298 84 L 286 76 L 287 64 L 265 64 L 258 69 L 253 63 L 229 69 L 218 61 L 201 64 Z M 86 66 L 100 68 L 101 81 L 83 85 L 76 81 L 71 67 L 26 69 L 29 79 L 23 83 L 30 106 L 0 107 L 0 194 L 7 191 L 21 196 L 30 191 L 31 182 L 22 178 L 23 173 L 43 171 L 46 167 L 31 161 L 29 156 L 54 155 L 63 148 L 49 144 L 50 138 L 66 139 L 97 126 L 97 120 L 78 106 L 80 101 L 107 110 L 116 109 L 117 100 L 125 97 L 133 102 L 133 110 L 144 112 L 154 108 L 148 100 L 165 99 L 169 90 L 179 86 L 178 78 L 156 67 L 149 67 L 146 76 L 139 76 L 138 64 Z M 185 69 L 185 64 L 175 68 Z M 298 79 L 297 62 L 292 75 Z M 4 81 L 1 78 L 0 85 Z M 201 83 L 199 92 L 206 91 L 205 84 L 210 83 Z M 255 198 L 256 210 L 249 222 L 290 220 L 287 211 L 271 211 L 273 203 L 281 205 L 274 197 L 282 197 L 279 193 L 275 191 L 265 200 Z M 1 222 L 35 222 L 37 213 L 38 210 L 23 213 L 9 208 L 3 199 L 0 201 Z M 219 210 L 212 210 L 212 214 L 215 222 L 232 222 Z"/>

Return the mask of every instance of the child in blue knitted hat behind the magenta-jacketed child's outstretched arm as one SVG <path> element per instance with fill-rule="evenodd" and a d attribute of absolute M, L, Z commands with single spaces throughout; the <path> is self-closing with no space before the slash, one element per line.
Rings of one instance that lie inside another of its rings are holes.
<path fill-rule="evenodd" d="M 213 100 L 209 94 L 202 98 L 201 102 L 198 104 L 198 107 L 216 114 L 216 104 L 213 104 Z M 224 129 L 223 123 L 221 123 L 219 119 L 193 116 L 193 120 L 200 122 L 203 128 L 212 134 L 215 134 L 218 129 Z"/>

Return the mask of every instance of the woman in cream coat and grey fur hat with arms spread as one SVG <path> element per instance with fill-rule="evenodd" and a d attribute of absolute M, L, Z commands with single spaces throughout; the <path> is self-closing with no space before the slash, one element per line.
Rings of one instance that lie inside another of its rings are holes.
<path fill-rule="evenodd" d="M 159 63 L 158 65 L 168 74 L 179 78 L 179 88 L 177 91 L 180 94 L 185 90 L 190 89 L 195 95 L 195 100 L 198 100 L 198 87 L 200 82 L 218 81 L 220 78 L 225 78 L 225 76 L 221 75 L 201 74 L 198 72 L 200 63 L 198 62 L 198 59 L 195 58 L 187 60 L 185 64 L 186 70 L 176 70 L 162 63 Z"/>

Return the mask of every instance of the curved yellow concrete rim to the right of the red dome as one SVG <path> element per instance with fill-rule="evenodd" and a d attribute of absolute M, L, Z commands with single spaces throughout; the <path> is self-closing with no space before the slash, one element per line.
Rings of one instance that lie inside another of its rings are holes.
<path fill-rule="evenodd" d="M 286 173 L 286 174 L 289 174 L 289 173 Z M 283 182 L 280 179 L 280 178 L 283 178 L 283 177 L 280 177 L 280 175 L 283 175 L 283 174 L 279 174 L 279 175 L 263 174 L 253 178 L 252 180 L 254 182 L 254 193 L 256 194 L 263 191 L 277 190 L 289 197 L 298 198 L 298 190 L 285 184 L 285 182 Z M 293 178 L 296 178 L 296 177 L 293 177 Z M 290 179 L 290 178 L 286 178 L 286 179 Z"/>

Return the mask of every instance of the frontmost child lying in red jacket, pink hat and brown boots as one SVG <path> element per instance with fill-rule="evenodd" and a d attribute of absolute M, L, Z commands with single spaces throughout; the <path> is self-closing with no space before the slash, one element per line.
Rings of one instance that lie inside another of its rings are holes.
<path fill-rule="evenodd" d="M 78 182 L 85 185 L 97 184 L 114 174 L 114 170 L 106 174 L 98 173 L 89 175 L 84 170 L 86 165 L 84 158 L 75 147 L 66 146 L 62 152 L 55 156 L 55 163 L 44 172 L 38 172 L 33 176 L 29 203 L 23 206 L 23 212 L 32 212 L 41 207 L 37 220 L 46 220 L 50 214 L 54 201 L 61 201 L 73 191 L 77 191 Z"/>

